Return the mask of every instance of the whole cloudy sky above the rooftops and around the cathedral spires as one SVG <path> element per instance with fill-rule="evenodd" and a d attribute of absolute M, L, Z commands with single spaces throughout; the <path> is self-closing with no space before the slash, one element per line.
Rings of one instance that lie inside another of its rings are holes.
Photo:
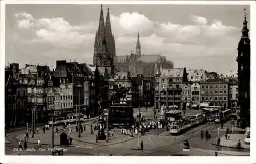
<path fill-rule="evenodd" d="M 107 7 L 117 56 L 135 51 L 139 31 L 142 53 L 161 53 L 175 67 L 237 68 L 243 9 L 250 13 L 249 6 L 105 4 L 104 18 Z M 100 5 L 6 5 L 6 65 L 92 63 L 99 14 Z"/>

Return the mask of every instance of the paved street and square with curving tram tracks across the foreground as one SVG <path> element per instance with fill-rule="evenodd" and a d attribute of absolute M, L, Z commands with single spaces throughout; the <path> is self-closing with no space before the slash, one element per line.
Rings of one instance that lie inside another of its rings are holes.
<path fill-rule="evenodd" d="M 135 109 L 134 115 L 137 115 Z M 192 113 L 197 111 L 190 111 Z M 199 112 L 199 111 L 198 111 Z M 141 108 L 141 113 L 146 118 L 153 118 L 153 109 L 148 108 L 147 111 L 145 108 Z M 93 122 L 86 123 L 86 132 L 83 131 L 81 133 L 81 137 L 78 138 L 78 133 L 73 132 L 69 134 L 68 130 L 61 130 L 59 127 L 58 135 L 64 131 L 67 132 L 68 136 L 73 138 L 72 147 L 60 146 L 59 144 L 59 136 L 54 136 L 55 138 L 55 147 L 63 147 L 66 148 L 67 151 L 64 152 L 64 155 L 136 155 L 136 156 L 177 156 L 177 155 L 214 155 L 215 151 L 226 151 L 226 148 L 216 147 L 211 143 L 214 142 L 214 139 L 218 136 L 217 128 L 220 128 L 219 124 L 215 123 L 205 123 L 199 126 L 196 126 L 188 131 L 184 132 L 179 136 L 169 135 L 169 132 L 164 129 L 152 130 L 151 132 L 147 132 L 144 136 L 139 136 L 139 143 L 143 141 L 144 143 L 144 151 L 136 150 L 138 145 L 138 138 L 126 136 L 124 134 L 114 134 L 114 136 L 110 136 L 109 143 L 106 143 L 105 140 L 99 140 L 98 143 L 95 141 L 96 134 L 90 134 L 90 126 L 94 125 Z M 229 122 L 224 124 L 224 129 L 229 126 Z M 205 136 L 201 138 L 200 133 L 201 130 L 204 132 L 206 130 L 211 131 L 211 138 L 206 139 Z M 8 138 L 16 138 L 22 139 L 22 134 L 24 130 L 17 130 L 15 132 L 11 132 L 8 135 Z M 94 132 L 95 133 L 95 132 Z M 219 135 L 224 135 L 225 131 L 220 131 Z M 19 134 L 19 135 L 17 135 Z M 38 135 L 41 138 L 42 148 L 48 149 L 51 148 L 51 128 L 50 131 L 47 131 L 46 134 L 42 134 L 42 132 Z M 192 148 L 189 152 L 184 152 L 182 147 L 184 146 L 184 140 L 188 140 L 190 147 Z M 32 142 L 28 140 L 28 142 Z M 47 144 L 47 145 L 44 145 Z M 14 148 L 18 147 L 17 140 L 13 140 L 12 143 L 5 144 L 5 154 L 6 155 L 50 155 L 49 151 L 38 151 L 37 148 L 37 138 L 34 138 L 34 143 L 28 143 L 29 148 L 34 148 L 36 151 L 13 151 Z M 249 149 L 235 149 L 229 148 L 230 152 L 243 152 L 249 153 Z M 223 154 L 224 155 L 224 154 Z"/>

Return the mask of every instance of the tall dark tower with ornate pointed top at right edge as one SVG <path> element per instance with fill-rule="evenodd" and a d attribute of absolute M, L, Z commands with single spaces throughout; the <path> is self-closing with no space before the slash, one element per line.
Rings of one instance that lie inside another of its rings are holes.
<path fill-rule="evenodd" d="M 245 9 L 244 9 L 245 10 Z M 238 43 L 238 105 L 240 106 L 241 127 L 250 126 L 250 39 L 244 16 L 242 36 Z"/>

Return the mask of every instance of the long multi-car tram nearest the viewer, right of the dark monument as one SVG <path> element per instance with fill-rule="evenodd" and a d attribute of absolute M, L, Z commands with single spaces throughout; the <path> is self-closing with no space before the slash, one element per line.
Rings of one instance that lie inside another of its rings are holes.
<path fill-rule="evenodd" d="M 177 135 L 190 128 L 198 126 L 205 121 L 203 114 L 195 114 L 185 119 L 176 120 L 170 123 L 170 134 Z"/>

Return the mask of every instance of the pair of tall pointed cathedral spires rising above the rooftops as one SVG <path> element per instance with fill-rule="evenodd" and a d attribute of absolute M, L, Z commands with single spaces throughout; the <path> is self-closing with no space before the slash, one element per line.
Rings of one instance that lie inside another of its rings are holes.
<path fill-rule="evenodd" d="M 114 34 L 111 31 L 109 8 L 106 15 L 106 24 L 101 5 L 99 27 L 95 35 L 93 65 L 107 67 L 110 74 L 114 74 L 114 62 L 116 59 L 116 47 Z"/>

